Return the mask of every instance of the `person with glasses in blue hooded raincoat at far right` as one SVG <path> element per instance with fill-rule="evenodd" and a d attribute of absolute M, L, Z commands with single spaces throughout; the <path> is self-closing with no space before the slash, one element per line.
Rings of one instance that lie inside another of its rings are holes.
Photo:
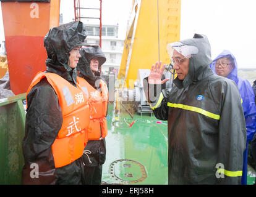
<path fill-rule="evenodd" d="M 242 108 L 244 110 L 244 118 L 247 130 L 247 148 L 244 152 L 244 173 L 242 176 L 242 184 L 246 184 L 248 143 L 252 140 L 252 137 L 254 137 L 256 131 L 256 107 L 254 90 L 252 89 L 252 86 L 247 79 L 243 79 L 237 76 L 236 58 L 229 50 L 223 50 L 223 52 L 221 52 L 221 54 L 219 54 L 210 64 L 210 68 L 215 74 L 236 82 L 242 98 Z"/>

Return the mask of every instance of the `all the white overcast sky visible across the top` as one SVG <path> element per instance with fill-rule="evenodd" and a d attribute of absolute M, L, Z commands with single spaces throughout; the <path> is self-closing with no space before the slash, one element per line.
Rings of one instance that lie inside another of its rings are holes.
<path fill-rule="evenodd" d="M 85 2 L 95 2 L 91 7 L 98 7 L 100 1 Z M 119 38 L 122 39 L 126 36 L 131 2 L 131 0 L 103 0 L 103 24 L 118 23 Z M 73 3 L 73 0 L 61 0 L 64 23 L 74 18 Z M 211 44 L 212 58 L 222 50 L 228 49 L 236 57 L 239 68 L 256 69 L 255 8 L 255 0 L 182 0 L 181 39 L 192 38 L 194 33 L 206 34 Z M 0 41 L 3 39 L 1 14 Z"/>

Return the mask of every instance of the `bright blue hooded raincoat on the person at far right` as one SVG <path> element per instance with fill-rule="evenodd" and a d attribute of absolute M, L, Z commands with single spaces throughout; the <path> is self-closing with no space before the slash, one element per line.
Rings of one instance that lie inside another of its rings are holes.
<path fill-rule="evenodd" d="M 246 129 L 247 129 L 247 142 L 252 140 L 252 137 L 254 137 L 255 131 L 256 131 L 256 107 L 255 107 L 255 95 L 254 90 L 252 89 L 252 86 L 250 85 L 250 82 L 247 79 L 242 79 L 239 76 L 237 76 L 237 62 L 236 58 L 229 50 L 223 50 L 218 57 L 216 57 L 213 62 L 210 64 L 211 70 L 215 70 L 216 60 L 219 58 L 225 57 L 226 55 L 231 55 L 231 57 L 234 60 L 235 67 L 231 71 L 231 73 L 228 74 L 226 78 L 233 80 L 236 82 L 237 87 L 239 89 L 241 98 L 242 98 L 242 108 L 244 110 L 244 118 L 246 123 Z"/>

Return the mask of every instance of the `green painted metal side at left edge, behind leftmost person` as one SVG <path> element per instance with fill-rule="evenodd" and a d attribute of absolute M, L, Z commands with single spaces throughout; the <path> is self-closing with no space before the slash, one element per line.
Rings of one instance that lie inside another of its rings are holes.
<path fill-rule="evenodd" d="M 25 94 L 0 100 L 0 184 L 20 184 Z"/>

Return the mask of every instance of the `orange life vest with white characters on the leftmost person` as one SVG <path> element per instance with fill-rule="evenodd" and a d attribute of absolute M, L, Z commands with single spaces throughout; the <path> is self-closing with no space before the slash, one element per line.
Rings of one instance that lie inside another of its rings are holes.
<path fill-rule="evenodd" d="M 38 72 L 28 87 L 28 92 L 43 78 L 58 95 L 63 122 L 58 136 L 51 145 L 55 167 L 66 166 L 83 155 L 88 139 L 87 127 L 90 124 L 88 97 L 82 89 L 72 86 L 58 74 Z M 83 87 L 85 88 L 85 87 Z"/>

